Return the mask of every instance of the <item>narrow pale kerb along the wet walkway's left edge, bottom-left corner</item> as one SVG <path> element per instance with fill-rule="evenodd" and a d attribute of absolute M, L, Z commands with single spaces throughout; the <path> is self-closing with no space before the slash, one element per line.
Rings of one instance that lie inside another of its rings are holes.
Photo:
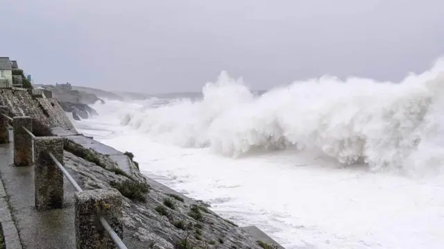
<path fill-rule="evenodd" d="M 6 249 L 22 249 L 19 232 L 10 212 L 9 196 L 3 187 L 0 175 L 0 223 Z"/>

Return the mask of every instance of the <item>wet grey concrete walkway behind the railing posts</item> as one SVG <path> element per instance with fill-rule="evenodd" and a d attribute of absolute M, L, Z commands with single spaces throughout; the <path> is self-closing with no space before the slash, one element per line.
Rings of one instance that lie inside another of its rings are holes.
<path fill-rule="evenodd" d="M 62 209 L 37 212 L 34 167 L 14 166 L 13 142 L 0 144 L 0 217 L 6 249 L 76 248 L 74 188 L 65 181 Z"/>

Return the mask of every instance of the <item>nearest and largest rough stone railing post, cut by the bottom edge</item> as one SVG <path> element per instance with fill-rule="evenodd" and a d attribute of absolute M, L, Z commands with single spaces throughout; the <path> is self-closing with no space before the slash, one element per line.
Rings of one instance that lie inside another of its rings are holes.
<path fill-rule="evenodd" d="M 77 249 L 114 249 L 112 238 L 101 225 L 100 216 L 123 237 L 122 196 L 116 189 L 94 189 L 75 194 Z"/>

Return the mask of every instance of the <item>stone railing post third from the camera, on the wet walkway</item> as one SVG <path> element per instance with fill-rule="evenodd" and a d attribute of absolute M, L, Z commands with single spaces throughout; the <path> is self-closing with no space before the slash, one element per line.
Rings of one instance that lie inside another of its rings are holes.
<path fill-rule="evenodd" d="M 15 166 L 28 166 L 33 164 L 33 138 L 23 129 L 33 131 L 33 119 L 28 116 L 14 117 L 14 164 Z"/>

